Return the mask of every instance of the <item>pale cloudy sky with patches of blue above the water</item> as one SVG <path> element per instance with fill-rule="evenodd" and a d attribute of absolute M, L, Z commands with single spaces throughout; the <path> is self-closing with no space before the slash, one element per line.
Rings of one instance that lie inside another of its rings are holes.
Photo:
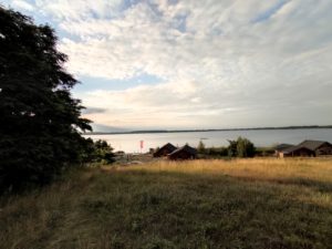
<path fill-rule="evenodd" d="M 332 124 L 331 0 L 2 0 L 48 22 L 96 129 Z"/>

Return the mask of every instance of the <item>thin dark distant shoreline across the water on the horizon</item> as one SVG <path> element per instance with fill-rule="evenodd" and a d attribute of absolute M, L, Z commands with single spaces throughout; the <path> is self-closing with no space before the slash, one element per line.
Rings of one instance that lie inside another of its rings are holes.
<path fill-rule="evenodd" d="M 253 128 L 210 128 L 210 129 L 148 129 L 131 132 L 92 132 L 83 135 L 124 135 L 124 134 L 155 134 L 155 133 L 197 133 L 197 132 L 231 132 L 231 131 L 269 131 L 269 129 L 309 129 L 309 128 L 332 128 L 332 125 L 310 126 L 281 126 L 281 127 L 253 127 Z"/>

